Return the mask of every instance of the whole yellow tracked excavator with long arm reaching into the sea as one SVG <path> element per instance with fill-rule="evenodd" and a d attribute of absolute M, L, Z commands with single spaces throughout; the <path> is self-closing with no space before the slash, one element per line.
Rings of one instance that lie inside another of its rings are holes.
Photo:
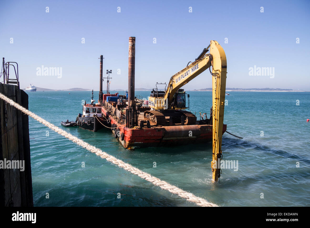
<path fill-rule="evenodd" d="M 209 49 L 210 53 L 207 53 Z M 210 66 L 212 66 L 212 71 Z M 148 99 L 150 110 L 144 112 L 144 118 L 162 126 L 166 125 L 166 117 L 169 117 L 171 122 L 179 121 L 184 125 L 196 124 L 196 116 L 185 111 L 188 108 L 186 107 L 186 93 L 181 87 L 208 68 L 212 75 L 213 146 L 211 167 L 212 178 L 217 181 L 220 176 L 219 161 L 222 155 L 221 145 L 227 74 L 226 55 L 217 41 L 211 40 L 210 45 L 203 49 L 194 62 L 173 75 L 164 91 L 158 91 L 157 88 L 157 84 L 162 83 L 156 84 L 156 88 L 153 89 Z M 189 94 L 187 97 L 189 99 Z"/>

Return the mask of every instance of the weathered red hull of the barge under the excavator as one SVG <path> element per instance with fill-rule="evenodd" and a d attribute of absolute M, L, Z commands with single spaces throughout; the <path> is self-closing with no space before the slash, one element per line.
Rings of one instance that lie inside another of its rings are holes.
<path fill-rule="evenodd" d="M 107 111 L 105 107 L 110 110 Z M 108 120 L 109 127 L 112 126 L 114 137 L 126 149 L 135 149 L 140 147 L 155 146 L 176 146 L 196 143 L 206 143 L 212 141 L 212 125 L 195 124 L 195 125 L 176 125 L 176 126 L 155 126 L 150 128 L 128 128 L 126 124 L 120 124 L 115 113 L 118 110 L 105 101 L 102 107 L 102 116 Z M 143 114 L 139 114 L 138 121 L 143 121 Z M 105 123 L 107 123 L 105 122 Z M 223 125 L 223 133 L 227 125 Z"/>

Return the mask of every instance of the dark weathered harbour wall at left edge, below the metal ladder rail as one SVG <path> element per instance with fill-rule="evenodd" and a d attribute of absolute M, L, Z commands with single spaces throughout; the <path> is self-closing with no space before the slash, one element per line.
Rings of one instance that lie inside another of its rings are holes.
<path fill-rule="evenodd" d="M 28 94 L 16 85 L 1 83 L 0 92 L 28 109 Z M 28 115 L 0 100 L 0 123 L 0 205 L 31 207 Z"/>

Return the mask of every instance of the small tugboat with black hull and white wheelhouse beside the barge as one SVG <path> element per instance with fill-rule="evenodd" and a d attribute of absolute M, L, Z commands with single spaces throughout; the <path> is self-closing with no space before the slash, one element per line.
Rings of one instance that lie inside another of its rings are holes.
<path fill-rule="evenodd" d="M 93 132 L 98 131 L 104 125 L 104 119 L 101 115 L 101 105 L 99 103 L 94 103 L 94 90 L 91 92 L 91 104 L 83 105 L 82 113 L 78 114 L 76 119 L 77 126 L 87 129 Z"/>

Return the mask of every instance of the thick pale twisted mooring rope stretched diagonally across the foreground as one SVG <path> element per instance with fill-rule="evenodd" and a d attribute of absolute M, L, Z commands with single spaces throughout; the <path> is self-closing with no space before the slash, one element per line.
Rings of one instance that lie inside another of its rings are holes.
<path fill-rule="evenodd" d="M 9 103 L 10 105 L 13 105 L 15 108 L 22 111 L 23 113 L 34 118 L 38 122 L 40 122 L 40 123 L 44 124 L 45 126 L 51 128 L 53 131 L 57 132 L 58 134 L 66 137 L 67 139 L 69 139 L 69 140 L 75 142 L 76 144 L 82 146 L 86 150 L 89 150 L 90 152 L 95 153 L 97 156 L 100 156 L 101 158 L 106 159 L 107 161 L 112 162 L 112 163 L 116 164 L 117 166 L 122 167 L 123 169 L 125 169 L 125 170 L 127 170 L 127 171 L 129 171 L 135 175 L 138 175 L 142 179 L 145 179 L 145 180 L 151 182 L 153 185 L 159 186 L 164 190 L 168 190 L 169 192 L 171 192 L 173 194 L 177 194 L 180 197 L 187 199 L 190 202 L 196 203 L 198 206 L 218 207 L 218 205 L 216 205 L 216 204 L 210 203 L 210 202 L 206 201 L 205 199 L 197 197 L 194 194 L 186 192 L 186 191 L 184 191 L 184 190 L 182 190 L 182 189 L 180 189 L 174 185 L 170 185 L 168 182 L 162 181 L 157 177 L 153 177 L 152 175 L 150 175 L 146 172 L 143 172 L 143 171 L 139 170 L 138 168 L 135 168 L 135 167 L 131 166 L 130 164 L 125 163 L 122 160 L 119 160 L 119 159 L 113 157 L 112 155 L 105 153 L 104 151 L 96 148 L 95 146 L 92 146 L 92 145 L 84 142 L 83 140 L 69 134 L 68 132 L 60 129 L 59 127 L 56 127 L 54 124 L 49 123 L 46 120 L 44 120 L 43 118 L 39 117 L 38 115 L 30 112 L 28 109 L 17 104 L 15 101 L 11 100 L 7 96 L 4 96 L 2 93 L 0 93 L 0 98 L 2 100 L 6 101 L 7 103 Z"/>

